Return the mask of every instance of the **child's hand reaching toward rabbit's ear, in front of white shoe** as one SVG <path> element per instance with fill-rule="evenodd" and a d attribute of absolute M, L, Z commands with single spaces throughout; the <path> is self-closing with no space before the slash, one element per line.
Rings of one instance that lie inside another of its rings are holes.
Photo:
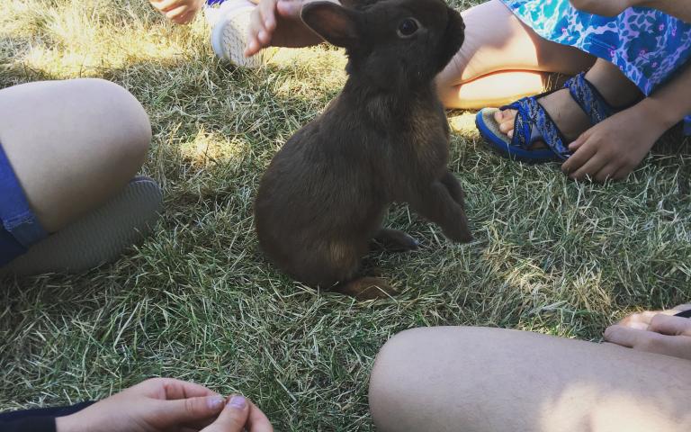
<path fill-rule="evenodd" d="M 273 47 L 307 47 L 321 38 L 302 23 L 302 5 L 310 0 L 261 0 L 252 13 L 245 56 Z"/>

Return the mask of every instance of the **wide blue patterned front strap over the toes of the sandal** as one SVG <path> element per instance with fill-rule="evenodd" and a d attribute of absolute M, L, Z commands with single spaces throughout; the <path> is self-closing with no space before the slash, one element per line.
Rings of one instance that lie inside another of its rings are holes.
<path fill-rule="evenodd" d="M 530 150 L 535 142 L 543 141 L 557 157 L 566 160 L 570 157 L 571 151 L 557 124 L 544 110 L 543 105 L 537 102 L 541 96 L 524 97 L 499 108 L 502 111 L 516 110 L 511 146 Z"/>

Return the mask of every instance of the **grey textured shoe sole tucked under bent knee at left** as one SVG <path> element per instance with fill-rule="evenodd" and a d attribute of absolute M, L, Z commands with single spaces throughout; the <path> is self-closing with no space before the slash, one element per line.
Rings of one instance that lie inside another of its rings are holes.
<path fill-rule="evenodd" d="M 80 220 L 49 236 L 0 270 L 0 275 L 75 274 L 115 261 L 151 231 L 163 193 L 148 177 L 125 189 Z"/>

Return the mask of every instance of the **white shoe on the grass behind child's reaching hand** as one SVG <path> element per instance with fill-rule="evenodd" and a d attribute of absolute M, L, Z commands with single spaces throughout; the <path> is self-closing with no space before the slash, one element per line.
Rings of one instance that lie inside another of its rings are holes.
<path fill-rule="evenodd" d="M 277 49 L 262 49 L 255 56 L 246 58 L 249 21 L 256 4 L 249 0 L 227 0 L 216 10 L 207 12 L 207 20 L 213 25 L 211 47 L 216 55 L 239 67 L 256 68 L 265 65 Z"/>

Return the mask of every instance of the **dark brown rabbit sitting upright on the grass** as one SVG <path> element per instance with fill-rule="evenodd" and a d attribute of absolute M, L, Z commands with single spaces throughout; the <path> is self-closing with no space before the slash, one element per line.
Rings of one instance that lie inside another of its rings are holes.
<path fill-rule="evenodd" d="M 370 299 L 395 293 L 360 275 L 373 238 L 410 250 L 382 229 L 391 202 L 408 202 L 444 235 L 470 241 L 461 185 L 446 169 L 449 126 L 435 76 L 461 48 L 461 15 L 442 0 L 310 3 L 302 20 L 346 48 L 348 80 L 318 119 L 285 143 L 255 203 L 261 248 L 305 284 Z"/>

